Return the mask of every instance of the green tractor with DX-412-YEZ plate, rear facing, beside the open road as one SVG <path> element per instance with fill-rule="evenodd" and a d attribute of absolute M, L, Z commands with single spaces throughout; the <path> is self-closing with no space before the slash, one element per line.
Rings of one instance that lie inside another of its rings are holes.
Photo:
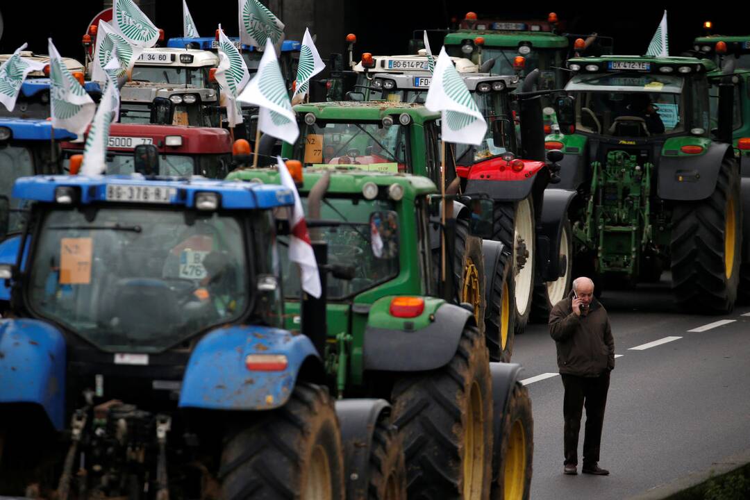
<path fill-rule="evenodd" d="M 718 85 L 712 129 L 712 61 L 613 55 L 571 58 L 568 69 L 568 95 L 556 100 L 562 133 L 546 147 L 565 152 L 559 187 L 579 193 L 567 208 L 574 268 L 607 286 L 658 281 L 668 269 L 680 307 L 730 311 L 750 241 L 732 83 Z"/>

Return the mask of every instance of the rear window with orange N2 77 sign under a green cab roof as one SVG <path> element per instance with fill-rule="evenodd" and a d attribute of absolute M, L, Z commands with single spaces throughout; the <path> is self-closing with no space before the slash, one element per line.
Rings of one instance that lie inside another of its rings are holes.
<path fill-rule="evenodd" d="M 382 121 L 317 122 L 305 125 L 297 148 L 305 166 L 358 166 L 379 172 L 407 172 L 408 127 Z"/>

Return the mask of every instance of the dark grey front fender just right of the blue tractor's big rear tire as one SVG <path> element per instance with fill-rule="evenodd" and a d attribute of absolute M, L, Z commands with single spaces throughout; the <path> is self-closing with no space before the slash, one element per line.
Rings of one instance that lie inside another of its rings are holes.
<path fill-rule="evenodd" d="M 391 412 L 386 400 L 347 399 L 336 401 L 336 416 L 344 443 L 347 499 L 368 498 L 370 452 L 378 421 Z"/>

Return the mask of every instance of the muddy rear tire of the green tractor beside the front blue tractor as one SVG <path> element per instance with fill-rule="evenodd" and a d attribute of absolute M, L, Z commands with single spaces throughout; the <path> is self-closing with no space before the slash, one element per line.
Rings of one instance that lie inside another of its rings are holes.
<path fill-rule="evenodd" d="M 410 499 L 487 498 L 492 380 L 487 346 L 475 327 L 464 327 L 458 350 L 445 367 L 398 379 L 392 404 L 407 451 Z"/>

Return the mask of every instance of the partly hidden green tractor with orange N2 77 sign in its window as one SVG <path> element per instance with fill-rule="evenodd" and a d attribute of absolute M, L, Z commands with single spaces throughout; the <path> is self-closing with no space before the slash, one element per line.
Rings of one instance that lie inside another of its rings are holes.
<path fill-rule="evenodd" d="M 305 167 L 353 166 L 372 172 L 411 173 L 440 186 L 440 113 L 413 103 L 329 102 L 295 106 L 300 137 L 284 144 L 282 156 Z M 263 139 L 262 141 L 263 142 Z M 444 188 L 460 192 L 455 148 L 446 151 Z M 505 260 L 509 248 L 499 241 L 481 241 L 469 232 L 470 207 L 454 203 L 446 217 L 456 220 L 458 251 L 450 264 L 455 275 L 455 301 L 472 304 L 478 326 L 487 337 L 490 358 L 508 361 L 514 337 L 514 315 L 502 314 Z M 448 235 L 448 238 L 454 238 Z M 440 249 L 434 242 L 432 251 Z M 486 286 L 485 286 L 486 285 Z M 508 295 L 514 296 L 512 283 Z"/>

